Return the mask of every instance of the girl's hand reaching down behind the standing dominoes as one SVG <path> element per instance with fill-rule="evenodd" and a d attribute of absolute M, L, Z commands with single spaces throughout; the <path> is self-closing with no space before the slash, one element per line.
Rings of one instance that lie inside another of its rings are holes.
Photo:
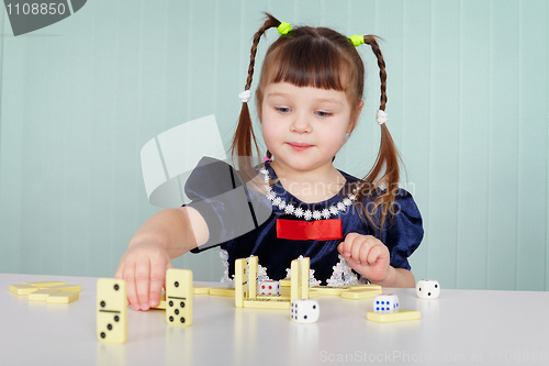
<path fill-rule="evenodd" d="M 126 280 L 127 301 L 134 310 L 148 310 L 159 304 L 168 268 L 173 265 L 164 246 L 141 243 L 130 246 L 114 277 Z"/>

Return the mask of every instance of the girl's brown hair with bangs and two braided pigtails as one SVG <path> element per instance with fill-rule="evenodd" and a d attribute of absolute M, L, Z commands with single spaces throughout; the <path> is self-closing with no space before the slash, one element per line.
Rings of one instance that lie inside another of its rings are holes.
<path fill-rule="evenodd" d="M 267 19 L 254 35 L 248 67 L 248 78 L 245 90 L 251 86 L 254 65 L 259 40 L 264 33 L 280 25 L 280 21 L 266 13 Z M 379 48 L 377 37 L 365 35 L 365 43 L 370 45 L 378 59 L 381 80 L 380 110 L 385 110 L 386 103 L 386 73 L 385 62 Z M 298 87 L 315 87 L 322 89 L 335 89 L 345 91 L 352 109 L 352 117 L 358 120 L 359 103 L 362 99 L 365 80 L 365 66 L 355 45 L 343 34 L 326 27 L 299 26 L 285 35 L 281 35 L 267 51 L 261 69 L 261 77 L 256 90 L 256 107 L 258 115 L 261 115 L 264 89 L 271 82 L 291 82 Z M 258 156 L 259 148 L 251 125 L 248 104 L 243 103 L 238 126 L 236 129 L 232 154 L 238 157 L 239 170 L 245 177 L 254 176 L 254 168 L 249 158 L 251 143 L 255 144 Z M 267 156 L 270 153 L 267 151 Z M 356 204 L 359 212 L 376 226 L 382 229 L 386 213 L 394 203 L 397 191 L 399 153 L 394 146 L 393 138 L 385 124 L 381 125 L 381 143 L 378 157 L 368 175 L 350 187 L 357 189 Z M 248 179 L 246 179 L 248 180 Z M 379 195 L 374 192 L 380 191 Z M 371 212 L 362 204 L 362 198 L 369 196 L 373 199 Z M 379 222 L 374 222 L 372 214 L 381 209 Z"/>

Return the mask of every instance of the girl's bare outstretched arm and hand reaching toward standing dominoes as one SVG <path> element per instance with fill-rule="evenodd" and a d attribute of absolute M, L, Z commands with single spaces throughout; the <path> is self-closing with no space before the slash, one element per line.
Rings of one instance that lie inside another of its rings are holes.
<path fill-rule="evenodd" d="M 171 259 L 208 242 L 209 230 L 200 213 L 190 207 L 154 214 L 130 241 L 114 275 L 127 282 L 127 300 L 134 310 L 158 306 L 166 270 Z"/>

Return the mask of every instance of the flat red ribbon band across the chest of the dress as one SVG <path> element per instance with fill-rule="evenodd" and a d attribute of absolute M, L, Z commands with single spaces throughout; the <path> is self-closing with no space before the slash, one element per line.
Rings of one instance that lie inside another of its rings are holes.
<path fill-rule="evenodd" d="M 343 239 L 341 219 L 315 221 L 277 219 L 277 237 L 294 241 Z"/>

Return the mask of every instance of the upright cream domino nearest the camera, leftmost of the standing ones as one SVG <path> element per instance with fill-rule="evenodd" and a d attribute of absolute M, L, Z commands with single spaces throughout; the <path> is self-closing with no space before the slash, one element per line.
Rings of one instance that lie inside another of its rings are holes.
<path fill-rule="evenodd" d="M 127 295 L 123 279 L 98 280 L 97 336 L 99 342 L 108 343 L 125 343 L 127 340 Z"/>

